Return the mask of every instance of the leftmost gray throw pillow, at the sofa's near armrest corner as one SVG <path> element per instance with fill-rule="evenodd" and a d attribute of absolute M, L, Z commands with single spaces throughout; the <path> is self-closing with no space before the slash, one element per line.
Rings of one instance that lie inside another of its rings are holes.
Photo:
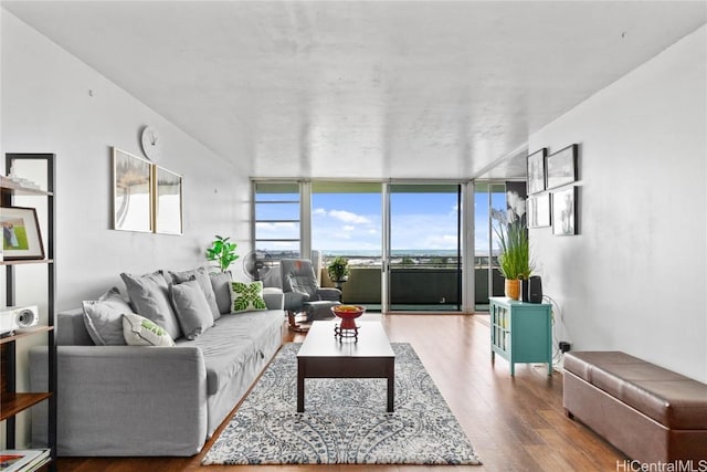
<path fill-rule="evenodd" d="M 120 291 L 113 287 L 96 301 L 84 301 L 84 324 L 96 346 L 125 345 L 123 338 L 124 313 L 131 313 L 130 305 L 123 300 Z"/>

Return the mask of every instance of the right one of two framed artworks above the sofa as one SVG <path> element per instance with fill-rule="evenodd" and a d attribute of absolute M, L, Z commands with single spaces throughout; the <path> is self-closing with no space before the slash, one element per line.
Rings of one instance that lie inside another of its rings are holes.
<path fill-rule="evenodd" d="M 155 232 L 183 234 L 182 176 L 154 166 Z"/>

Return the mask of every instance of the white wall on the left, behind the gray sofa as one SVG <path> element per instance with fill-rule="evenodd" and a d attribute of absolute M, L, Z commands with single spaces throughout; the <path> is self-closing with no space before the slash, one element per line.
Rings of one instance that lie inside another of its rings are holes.
<path fill-rule="evenodd" d="M 56 154 L 60 310 L 122 285 L 123 271 L 203 264 L 214 234 L 231 235 L 245 253 L 247 175 L 7 11 L 1 67 L 2 150 Z M 159 164 L 183 176 L 182 237 L 110 229 L 110 147 L 143 156 L 145 125 L 165 143 Z"/>

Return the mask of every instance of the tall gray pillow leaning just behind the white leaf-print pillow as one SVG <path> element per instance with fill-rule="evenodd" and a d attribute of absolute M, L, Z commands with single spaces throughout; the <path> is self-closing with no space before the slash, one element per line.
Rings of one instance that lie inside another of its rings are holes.
<path fill-rule="evenodd" d="M 145 316 L 162 327 L 177 339 L 181 336 L 179 322 L 169 302 L 169 286 L 162 276 L 162 271 L 151 274 L 131 275 L 122 273 L 120 279 L 128 290 L 130 303 L 138 315 Z"/>

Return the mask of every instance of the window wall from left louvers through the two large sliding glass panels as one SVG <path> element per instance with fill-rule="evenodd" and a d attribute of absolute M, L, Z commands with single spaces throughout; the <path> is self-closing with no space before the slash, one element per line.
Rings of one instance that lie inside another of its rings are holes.
<path fill-rule="evenodd" d="M 261 259 L 313 259 L 321 285 L 336 256 L 349 261 L 342 302 L 369 311 L 462 307 L 460 183 L 254 181 Z"/>

